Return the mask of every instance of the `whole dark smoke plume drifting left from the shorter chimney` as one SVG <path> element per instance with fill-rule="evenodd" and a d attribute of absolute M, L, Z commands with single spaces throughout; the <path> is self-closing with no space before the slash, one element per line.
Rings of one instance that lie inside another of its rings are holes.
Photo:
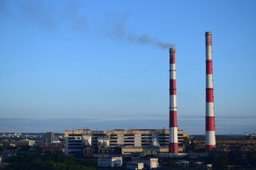
<path fill-rule="evenodd" d="M 68 28 L 74 32 L 86 33 L 87 28 L 91 28 L 92 30 L 96 30 L 97 33 L 103 31 L 108 38 L 117 41 L 124 40 L 141 45 L 153 45 L 162 49 L 174 47 L 172 43 L 162 42 L 159 38 L 147 34 L 137 35 L 134 31 L 127 28 L 127 21 L 130 16 L 129 12 L 121 14 L 107 13 L 105 15 L 107 17 L 99 20 L 101 26 L 93 24 L 89 26 L 78 1 L 68 1 L 68 5 L 60 7 L 64 8 L 65 12 L 58 10 L 54 4 L 46 4 L 43 1 L 18 1 L 16 6 L 19 10 L 18 12 L 13 12 L 9 10 L 7 2 L 6 0 L 0 0 L 0 13 L 2 14 L 0 16 L 9 18 L 12 16 L 16 20 L 23 18 L 26 21 L 23 24 L 33 24 L 50 33 L 58 33 L 58 30 L 62 30 L 62 28 Z"/>

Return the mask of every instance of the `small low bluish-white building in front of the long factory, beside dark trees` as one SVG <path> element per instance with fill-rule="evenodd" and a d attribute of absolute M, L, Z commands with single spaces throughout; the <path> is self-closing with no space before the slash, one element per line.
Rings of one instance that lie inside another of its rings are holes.
<path fill-rule="evenodd" d="M 122 157 L 102 157 L 97 159 L 98 167 L 122 167 Z"/>

